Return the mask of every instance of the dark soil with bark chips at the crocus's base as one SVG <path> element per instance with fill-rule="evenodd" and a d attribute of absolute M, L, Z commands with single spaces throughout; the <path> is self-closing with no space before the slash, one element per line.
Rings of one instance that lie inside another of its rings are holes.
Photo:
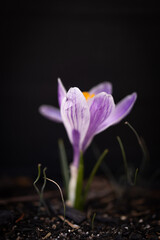
<path fill-rule="evenodd" d="M 31 183 L 18 179 L 6 187 L 1 181 L 0 239 L 160 239 L 158 190 L 132 187 L 117 195 L 106 179 L 96 178 L 85 210 L 67 207 L 64 219 L 58 190 L 45 192 L 48 215 Z"/>

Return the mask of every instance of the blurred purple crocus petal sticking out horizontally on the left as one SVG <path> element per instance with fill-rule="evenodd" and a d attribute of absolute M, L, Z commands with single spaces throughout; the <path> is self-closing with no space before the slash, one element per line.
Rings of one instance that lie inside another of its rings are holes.
<path fill-rule="evenodd" d="M 39 107 L 39 112 L 46 118 L 55 121 L 55 122 L 62 122 L 60 110 L 58 108 L 49 106 L 49 105 L 42 105 Z"/>

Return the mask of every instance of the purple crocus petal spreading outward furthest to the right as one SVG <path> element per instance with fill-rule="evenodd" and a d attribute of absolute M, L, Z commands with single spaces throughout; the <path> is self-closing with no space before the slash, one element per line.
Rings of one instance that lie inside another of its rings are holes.
<path fill-rule="evenodd" d="M 130 113 L 136 99 L 137 99 L 137 93 L 132 93 L 131 95 L 128 95 L 125 98 L 123 98 L 116 105 L 115 110 L 106 119 L 106 121 L 104 121 L 103 124 L 101 124 L 98 127 L 96 134 L 104 131 L 109 126 L 114 125 L 120 122 L 123 118 L 125 118 Z"/>

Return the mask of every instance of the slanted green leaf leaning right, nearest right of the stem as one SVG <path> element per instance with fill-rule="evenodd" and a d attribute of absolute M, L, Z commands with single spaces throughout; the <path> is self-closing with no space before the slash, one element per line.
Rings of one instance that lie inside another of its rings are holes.
<path fill-rule="evenodd" d="M 87 185 L 86 185 L 85 190 L 84 190 L 84 202 L 85 202 L 85 200 L 86 200 L 86 197 L 87 197 L 89 188 L 90 188 L 90 186 L 91 186 L 91 183 L 92 183 L 92 181 L 93 181 L 93 178 L 94 178 L 94 176 L 95 176 L 95 174 L 96 174 L 96 172 L 97 172 L 97 170 L 98 170 L 101 162 L 103 161 L 104 157 L 107 155 L 107 153 L 108 153 L 108 149 L 105 149 L 104 152 L 103 152 L 103 153 L 101 154 L 101 156 L 99 157 L 99 159 L 98 159 L 98 161 L 96 162 L 96 164 L 94 165 L 93 169 L 92 169 L 92 172 L 91 172 L 91 174 L 90 174 L 90 176 L 89 176 L 89 179 L 88 179 L 88 181 L 87 181 Z"/>

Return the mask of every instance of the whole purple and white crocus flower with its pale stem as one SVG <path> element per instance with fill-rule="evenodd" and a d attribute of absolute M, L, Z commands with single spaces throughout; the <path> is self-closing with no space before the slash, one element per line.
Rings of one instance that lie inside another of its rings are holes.
<path fill-rule="evenodd" d="M 81 92 L 77 87 L 66 91 L 58 79 L 58 102 L 60 109 L 42 105 L 40 113 L 50 120 L 64 124 L 69 140 L 73 146 L 73 162 L 71 164 L 70 196 L 73 205 L 75 184 L 80 152 L 84 152 L 94 136 L 108 127 L 120 122 L 131 111 L 137 94 L 123 98 L 115 105 L 112 96 L 112 84 L 103 82 L 88 92 Z"/>

